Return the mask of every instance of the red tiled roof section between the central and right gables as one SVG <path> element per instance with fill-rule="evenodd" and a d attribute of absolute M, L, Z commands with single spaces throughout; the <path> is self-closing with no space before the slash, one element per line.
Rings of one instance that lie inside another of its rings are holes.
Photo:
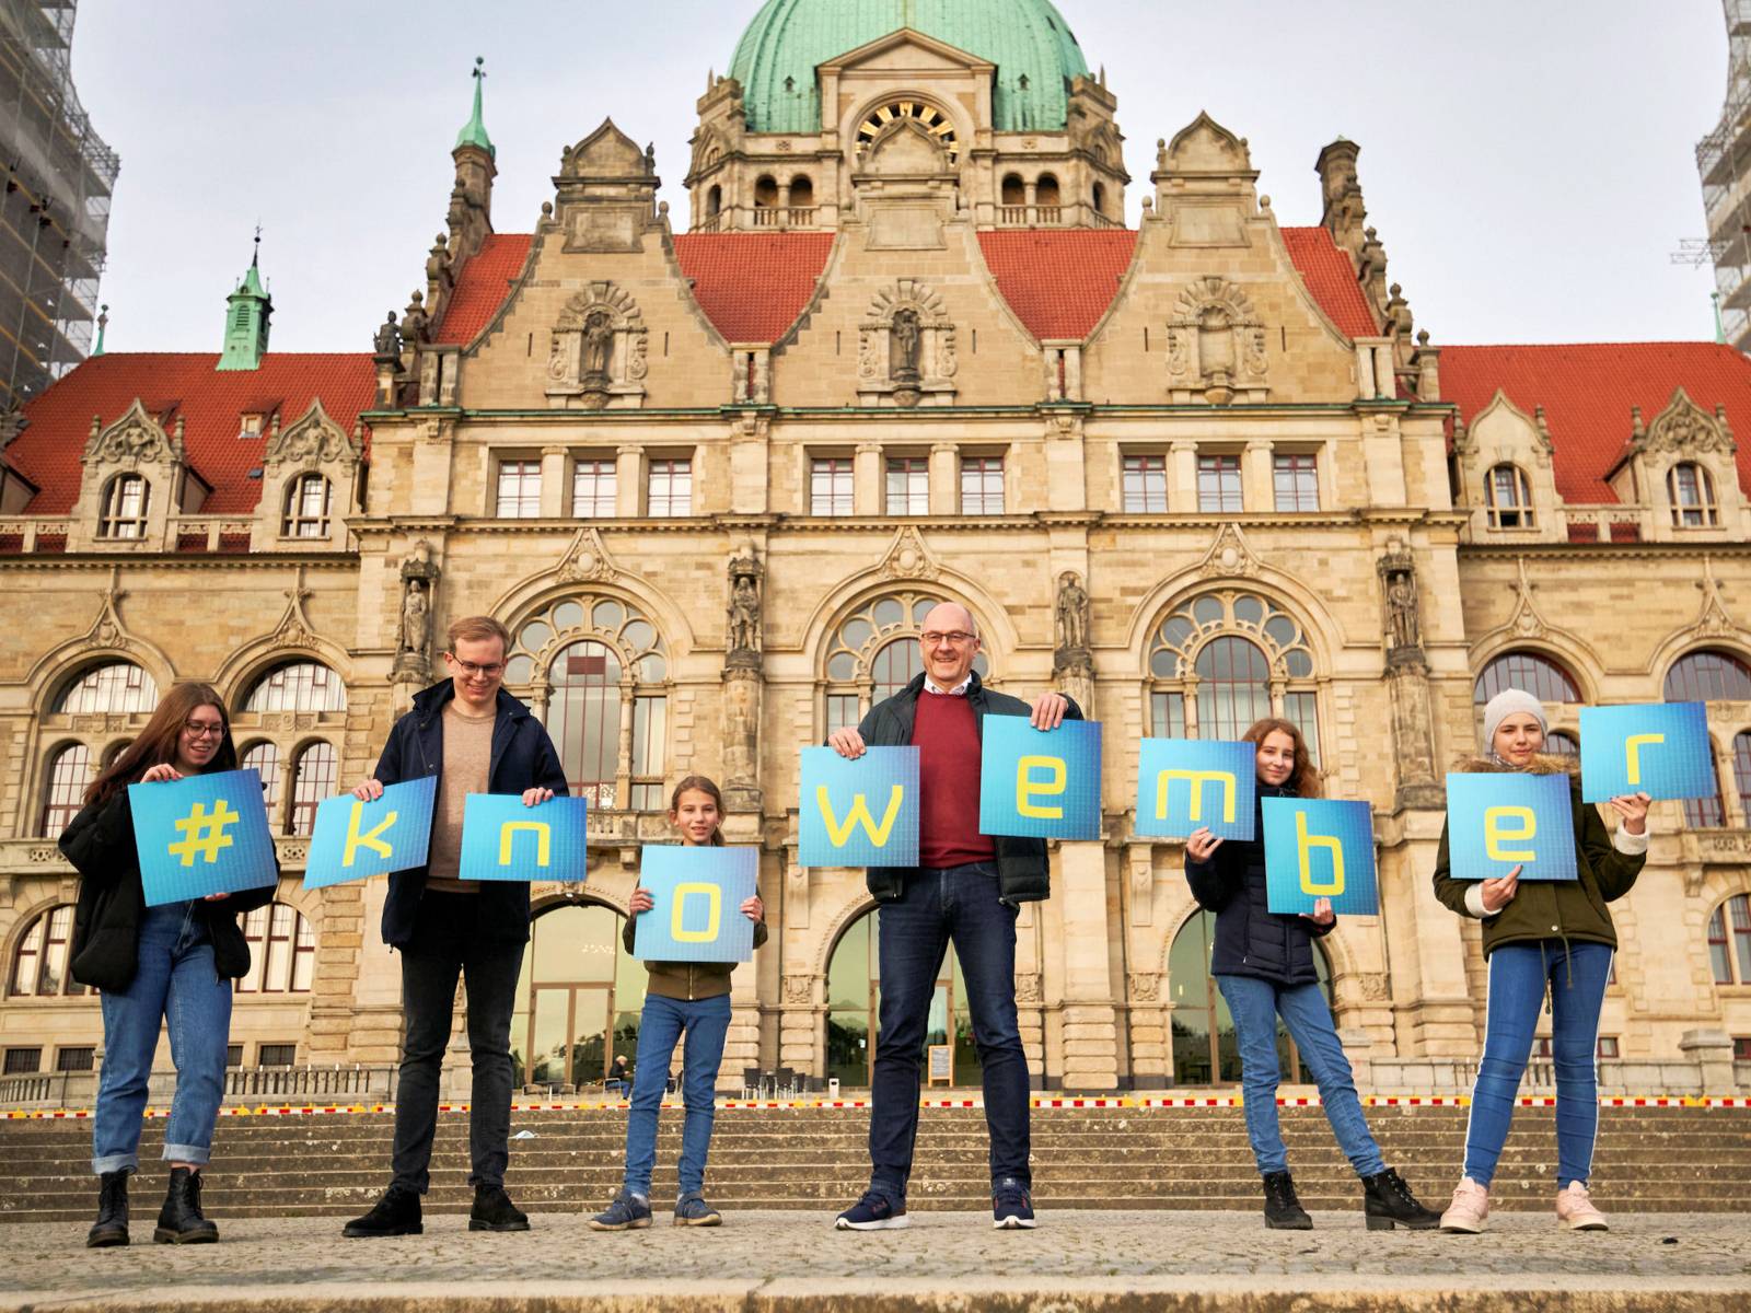
<path fill-rule="evenodd" d="M 979 249 L 1028 333 L 1040 341 L 1080 341 L 1119 294 L 1136 233 L 1128 228 L 996 231 L 981 233 Z"/>

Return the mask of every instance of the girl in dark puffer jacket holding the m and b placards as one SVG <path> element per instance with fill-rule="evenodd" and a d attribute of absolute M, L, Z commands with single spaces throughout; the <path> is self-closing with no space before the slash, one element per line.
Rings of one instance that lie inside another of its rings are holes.
<path fill-rule="evenodd" d="M 1185 840 L 1185 879 L 1199 907 L 1215 912 L 1215 949 L 1210 973 L 1234 1017 L 1240 1043 L 1240 1084 L 1247 1108 L 1247 1138 L 1264 1176 L 1264 1224 L 1282 1231 L 1308 1231 L 1313 1218 L 1296 1199 L 1289 1154 L 1276 1124 L 1276 1019 L 1301 1049 L 1319 1082 L 1320 1103 L 1338 1143 L 1362 1178 L 1368 1229 L 1390 1231 L 1397 1222 L 1429 1229 L 1439 1215 L 1429 1211 L 1410 1187 L 1380 1159 L 1368 1133 L 1361 1099 L 1350 1078 L 1331 1007 L 1313 965 L 1313 938 L 1329 935 L 1338 917 L 1320 898 L 1311 916 L 1271 912 L 1264 882 L 1264 798 L 1315 798 L 1319 772 L 1308 760 L 1301 730 L 1285 720 L 1261 720 L 1241 739 L 1255 751 L 1259 814 L 1252 842 L 1222 840 L 1198 828 Z"/>

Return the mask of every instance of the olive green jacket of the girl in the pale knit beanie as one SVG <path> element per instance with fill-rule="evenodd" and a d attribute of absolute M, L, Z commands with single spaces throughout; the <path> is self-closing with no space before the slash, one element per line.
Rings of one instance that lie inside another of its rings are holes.
<path fill-rule="evenodd" d="M 1473 758 L 1455 770 L 1506 772 L 1513 767 L 1499 758 Z M 1455 881 L 1446 851 L 1446 826 L 1434 858 L 1434 896 L 1460 916 L 1483 917 L 1483 956 L 1502 944 L 1560 938 L 1618 945 L 1611 924 L 1613 903 L 1630 891 L 1648 860 L 1648 835 L 1632 835 L 1618 826 L 1606 830 L 1599 807 L 1581 802 L 1579 762 L 1572 756 L 1534 756 L 1527 770 L 1537 776 L 1567 774 L 1574 804 L 1574 881 L 1522 881 L 1515 896 L 1495 916 L 1483 916 L 1483 886 Z"/>

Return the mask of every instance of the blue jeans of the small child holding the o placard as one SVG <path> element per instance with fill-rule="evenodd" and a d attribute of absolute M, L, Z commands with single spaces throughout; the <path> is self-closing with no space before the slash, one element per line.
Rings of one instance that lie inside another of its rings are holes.
<path fill-rule="evenodd" d="M 657 1166 L 657 1112 L 669 1084 L 669 1059 L 674 1045 L 686 1036 L 681 1050 L 681 1194 L 706 1189 L 706 1154 L 711 1150 L 711 1122 L 718 1115 L 718 1064 L 723 1063 L 723 1036 L 730 1031 L 730 996 L 664 998 L 644 994 L 639 1014 L 639 1057 L 632 1070 L 632 1110 L 627 1113 L 627 1189 L 651 1192 L 651 1168 Z"/>

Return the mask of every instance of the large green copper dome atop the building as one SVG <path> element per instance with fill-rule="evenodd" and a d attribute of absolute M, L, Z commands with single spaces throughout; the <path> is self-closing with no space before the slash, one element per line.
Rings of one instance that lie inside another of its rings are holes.
<path fill-rule="evenodd" d="M 998 131 L 1063 131 L 1082 47 L 1051 0 L 765 0 L 735 44 L 748 131 L 816 133 L 816 65 L 912 28 L 996 65 Z"/>

